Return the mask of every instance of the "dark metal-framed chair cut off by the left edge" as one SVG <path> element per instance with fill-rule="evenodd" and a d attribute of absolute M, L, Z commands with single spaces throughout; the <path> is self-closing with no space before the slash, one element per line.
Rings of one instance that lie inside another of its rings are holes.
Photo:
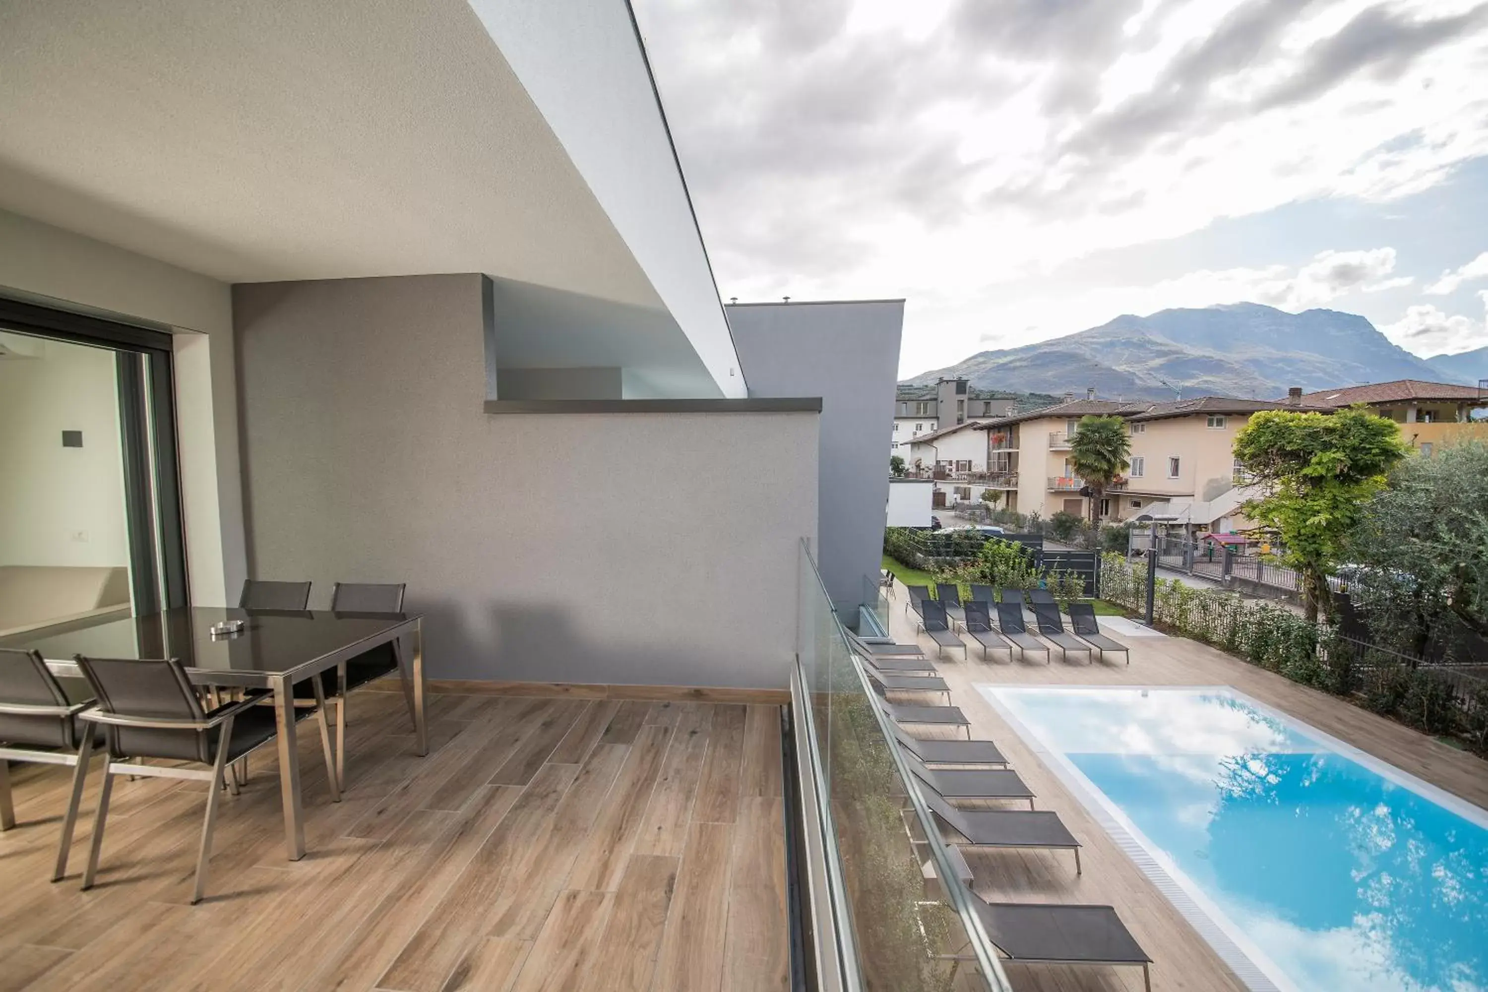
<path fill-rule="evenodd" d="M 94 733 L 77 721 L 77 714 L 91 706 L 92 700 L 88 683 L 80 678 L 57 678 L 39 653 L 0 648 L 0 830 L 15 827 L 7 761 L 73 769 L 73 791 L 62 821 L 54 882 L 67 872 L 77 803 L 88 778 L 88 761 L 92 759 Z"/>

